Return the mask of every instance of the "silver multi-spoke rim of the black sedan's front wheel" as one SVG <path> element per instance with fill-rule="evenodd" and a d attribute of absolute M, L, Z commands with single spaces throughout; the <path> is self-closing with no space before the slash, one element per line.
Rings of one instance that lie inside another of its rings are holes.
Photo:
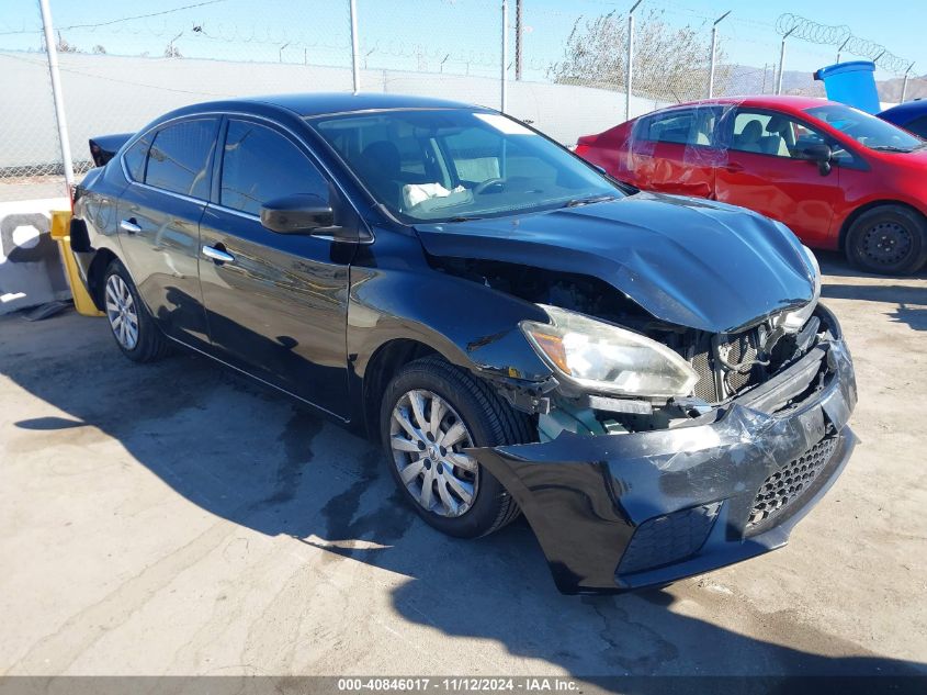
<path fill-rule="evenodd" d="M 408 391 L 393 408 L 393 461 L 409 494 L 433 514 L 456 517 L 473 506 L 479 468 L 472 456 L 463 452 L 472 446 L 466 424 L 431 391 Z"/>

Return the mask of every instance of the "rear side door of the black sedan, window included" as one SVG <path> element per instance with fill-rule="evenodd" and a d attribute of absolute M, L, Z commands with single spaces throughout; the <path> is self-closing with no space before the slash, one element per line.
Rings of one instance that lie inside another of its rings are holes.
<path fill-rule="evenodd" d="M 207 346 L 197 270 L 200 220 L 210 197 L 218 117 L 172 121 L 126 153 L 132 181 L 120 202 L 120 243 L 129 274 L 169 336 Z"/>

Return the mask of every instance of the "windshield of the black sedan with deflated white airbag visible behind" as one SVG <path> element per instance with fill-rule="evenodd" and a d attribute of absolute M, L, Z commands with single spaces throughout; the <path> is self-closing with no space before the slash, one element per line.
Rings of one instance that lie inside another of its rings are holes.
<path fill-rule="evenodd" d="M 432 109 L 307 119 L 368 190 L 412 222 L 453 222 L 623 197 L 546 137 L 497 113 Z"/>

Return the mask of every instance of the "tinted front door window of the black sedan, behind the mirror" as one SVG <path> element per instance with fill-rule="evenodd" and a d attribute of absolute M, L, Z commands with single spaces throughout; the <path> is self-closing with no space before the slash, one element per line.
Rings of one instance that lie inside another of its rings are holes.
<path fill-rule="evenodd" d="M 328 181 L 276 131 L 249 121 L 229 121 L 219 203 L 257 215 L 263 203 L 297 193 L 327 199 Z"/>

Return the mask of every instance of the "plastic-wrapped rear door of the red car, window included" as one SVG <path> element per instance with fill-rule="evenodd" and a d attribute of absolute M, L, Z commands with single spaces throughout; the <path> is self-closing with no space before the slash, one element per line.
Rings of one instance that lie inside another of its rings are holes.
<path fill-rule="evenodd" d="M 632 182 L 647 191 L 709 198 L 719 113 L 715 107 L 688 107 L 635 121 L 628 138 Z"/>

